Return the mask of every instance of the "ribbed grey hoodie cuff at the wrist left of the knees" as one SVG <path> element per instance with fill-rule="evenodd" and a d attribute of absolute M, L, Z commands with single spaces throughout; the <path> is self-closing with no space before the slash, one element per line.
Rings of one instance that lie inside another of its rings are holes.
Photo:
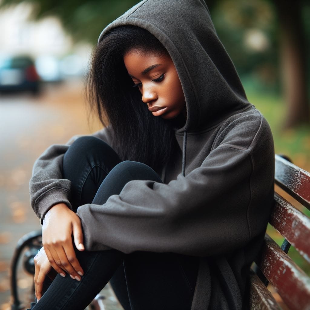
<path fill-rule="evenodd" d="M 69 195 L 70 193 L 68 190 L 62 188 L 52 188 L 38 197 L 35 203 L 35 211 L 37 216 L 40 218 L 41 224 L 47 211 L 58 203 L 65 203 L 69 209 L 73 210 L 69 201 Z"/>

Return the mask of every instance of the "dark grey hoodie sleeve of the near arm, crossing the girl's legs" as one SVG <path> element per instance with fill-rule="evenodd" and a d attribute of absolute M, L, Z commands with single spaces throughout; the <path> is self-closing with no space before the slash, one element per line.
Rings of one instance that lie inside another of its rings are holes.
<path fill-rule="evenodd" d="M 273 144 L 262 135 L 248 148 L 223 141 L 168 184 L 130 181 L 104 205 L 79 207 L 86 249 L 209 256 L 244 246 L 266 228 L 272 203 Z"/>

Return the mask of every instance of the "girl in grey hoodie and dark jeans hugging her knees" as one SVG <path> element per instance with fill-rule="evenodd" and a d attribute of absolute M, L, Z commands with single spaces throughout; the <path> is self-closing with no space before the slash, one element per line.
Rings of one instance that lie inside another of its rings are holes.
<path fill-rule="evenodd" d="M 274 149 L 205 2 L 144 0 L 108 25 L 89 94 L 104 129 L 33 168 L 33 309 L 84 309 L 109 280 L 125 310 L 246 309 Z"/>

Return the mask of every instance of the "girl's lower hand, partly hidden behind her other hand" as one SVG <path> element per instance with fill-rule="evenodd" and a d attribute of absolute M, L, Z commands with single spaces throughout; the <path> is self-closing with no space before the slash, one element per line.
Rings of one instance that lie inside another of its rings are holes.
<path fill-rule="evenodd" d="M 34 257 L 34 290 L 36 297 L 39 300 L 42 297 L 43 281 L 48 276 L 52 281 L 57 275 L 57 272 L 52 268 L 48 258 L 42 247 L 38 254 Z M 58 272 L 61 276 L 65 276 L 64 272 L 59 268 Z"/>

